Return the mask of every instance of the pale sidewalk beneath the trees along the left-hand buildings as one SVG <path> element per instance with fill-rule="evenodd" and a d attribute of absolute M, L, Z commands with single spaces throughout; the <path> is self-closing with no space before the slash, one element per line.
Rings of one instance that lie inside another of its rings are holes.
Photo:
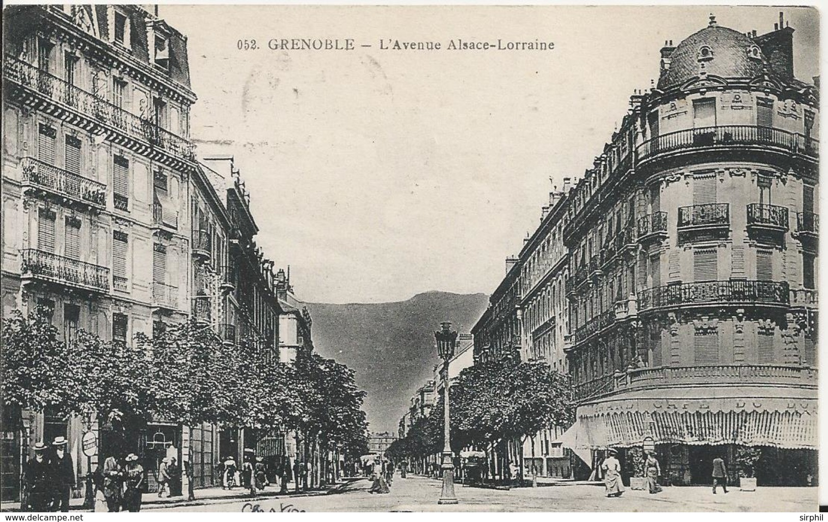
<path fill-rule="evenodd" d="M 169 507 L 188 507 L 194 505 L 206 504 L 224 504 L 226 502 L 238 502 L 245 499 L 278 499 L 290 498 L 294 496 L 320 496 L 335 493 L 340 489 L 348 486 L 351 481 L 359 480 L 359 477 L 344 477 L 341 481 L 335 484 L 329 484 L 323 488 L 309 490 L 309 491 L 295 491 L 289 489 L 287 493 L 280 493 L 278 486 L 272 485 L 264 489 L 264 491 L 256 491 L 255 496 L 250 496 L 250 491 L 242 487 L 235 487 L 232 490 L 224 490 L 221 487 L 205 487 L 193 491 L 194 500 L 187 500 L 186 492 L 184 496 L 173 497 L 159 497 L 157 493 L 144 493 L 142 496 L 141 509 L 166 509 Z M 69 501 L 70 510 L 84 510 L 84 499 L 73 498 Z M 20 502 L 3 502 L 0 504 L 0 511 L 20 511 Z"/>

